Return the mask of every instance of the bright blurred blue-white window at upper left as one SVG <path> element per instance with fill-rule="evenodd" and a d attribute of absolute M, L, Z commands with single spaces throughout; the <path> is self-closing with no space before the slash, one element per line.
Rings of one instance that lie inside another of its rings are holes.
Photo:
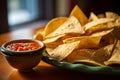
<path fill-rule="evenodd" d="M 39 18 L 39 0 L 8 0 L 8 22 L 10 26 Z"/>

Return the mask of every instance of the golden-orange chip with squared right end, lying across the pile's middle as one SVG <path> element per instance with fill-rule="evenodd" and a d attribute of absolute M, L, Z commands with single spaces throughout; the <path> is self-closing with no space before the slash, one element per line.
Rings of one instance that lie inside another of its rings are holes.
<path fill-rule="evenodd" d="M 99 43 L 101 40 L 101 36 L 82 36 L 82 37 L 71 37 L 63 40 L 64 43 L 71 43 L 74 41 L 80 41 L 79 48 L 87 49 L 87 48 L 97 48 L 99 47 Z"/>

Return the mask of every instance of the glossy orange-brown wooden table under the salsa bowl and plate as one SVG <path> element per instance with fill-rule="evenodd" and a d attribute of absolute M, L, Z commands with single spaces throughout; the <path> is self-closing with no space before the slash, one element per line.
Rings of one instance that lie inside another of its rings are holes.
<path fill-rule="evenodd" d="M 13 39 L 32 39 L 36 28 L 24 28 L 0 35 L 0 46 Z M 12 68 L 0 53 L 0 80 L 110 80 L 119 75 L 90 74 L 64 70 L 41 61 L 34 71 L 20 73 Z M 118 78 L 119 79 L 119 78 Z"/>

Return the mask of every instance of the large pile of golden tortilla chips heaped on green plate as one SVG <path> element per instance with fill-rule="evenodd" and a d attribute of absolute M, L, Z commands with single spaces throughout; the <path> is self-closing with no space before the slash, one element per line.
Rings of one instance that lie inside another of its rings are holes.
<path fill-rule="evenodd" d="M 120 44 L 112 56 L 115 27 L 120 26 L 120 16 L 113 12 L 87 18 L 77 5 L 69 17 L 50 20 L 43 31 L 39 30 L 34 39 L 46 45 L 50 57 L 58 61 L 88 65 L 120 64 Z"/>

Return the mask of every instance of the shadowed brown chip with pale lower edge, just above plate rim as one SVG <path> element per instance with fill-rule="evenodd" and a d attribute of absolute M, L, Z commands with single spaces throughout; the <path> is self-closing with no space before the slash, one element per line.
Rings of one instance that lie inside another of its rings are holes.
<path fill-rule="evenodd" d="M 92 49 L 80 49 L 73 51 L 70 55 L 68 55 L 64 61 L 70 62 L 70 63 L 82 63 L 87 65 L 103 65 L 99 62 L 96 62 L 92 59 L 92 54 L 96 50 Z"/>

